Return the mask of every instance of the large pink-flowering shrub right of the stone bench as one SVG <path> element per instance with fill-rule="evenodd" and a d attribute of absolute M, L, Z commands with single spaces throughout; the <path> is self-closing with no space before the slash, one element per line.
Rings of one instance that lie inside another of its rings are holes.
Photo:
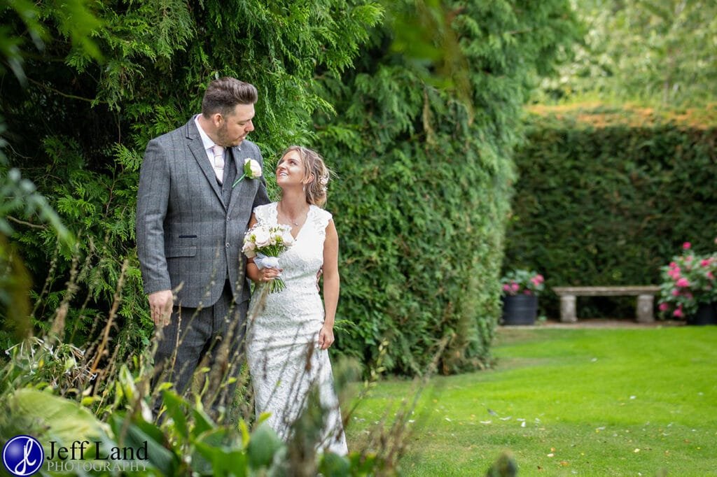
<path fill-rule="evenodd" d="M 682 255 L 674 256 L 661 268 L 663 282 L 657 308 L 668 318 L 684 318 L 695 314 L 702 303 L 717 302 L 717 253 L 698 256 L 690 242 L 682 248 Z"/>

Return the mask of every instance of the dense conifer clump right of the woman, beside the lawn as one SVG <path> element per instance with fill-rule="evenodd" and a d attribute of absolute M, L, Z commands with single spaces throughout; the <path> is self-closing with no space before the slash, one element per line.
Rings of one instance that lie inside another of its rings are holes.
<path fill-rule="evenodd" d="M 489 362 L 523 101 L 574 38 L 561 0 L 447 1 L 437 24 L 418 20 L 420 4 L 392 3 L 356 69 L 325 83 L 338 114 L 316 118 L 339 175 L 328 201 L 342 240 L 339 315 L 354 325 L 338 344 L 371 362 L 385 338 L 385 367 L 406 374 L 441 339 L 442 372 Z M 422 26 L 443 54 L 460 52 L 445 59 L 457 63 L 449 87 L 402 54 Z"/>

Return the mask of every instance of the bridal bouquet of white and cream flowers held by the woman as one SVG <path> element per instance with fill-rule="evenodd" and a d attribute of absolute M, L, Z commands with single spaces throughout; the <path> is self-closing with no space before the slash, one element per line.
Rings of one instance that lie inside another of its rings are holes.
<path fill-rule="evenodd" d="M 294 243 L 289 226 L 269 226 L 257 223 L 244 235 L 242 253 L 247 259 L 254 259 L 260 268 L 279 268 L 279 255 Z M 269 281 L 269 293 L 282 291 L 286 284 L 280 278 Z"/>

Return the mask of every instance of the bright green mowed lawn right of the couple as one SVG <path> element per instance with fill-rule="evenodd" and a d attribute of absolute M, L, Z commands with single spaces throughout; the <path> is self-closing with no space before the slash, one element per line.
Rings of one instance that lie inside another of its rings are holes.
<path fill-rule="evenodd" d="M 509 450 L 521 476 L 717 476 L 717 327 L 500 329 L 494 355 L 424 387 L 404 475 L 482 476 Z M 349 447 L 414 390 L 380 382 Z"/>

